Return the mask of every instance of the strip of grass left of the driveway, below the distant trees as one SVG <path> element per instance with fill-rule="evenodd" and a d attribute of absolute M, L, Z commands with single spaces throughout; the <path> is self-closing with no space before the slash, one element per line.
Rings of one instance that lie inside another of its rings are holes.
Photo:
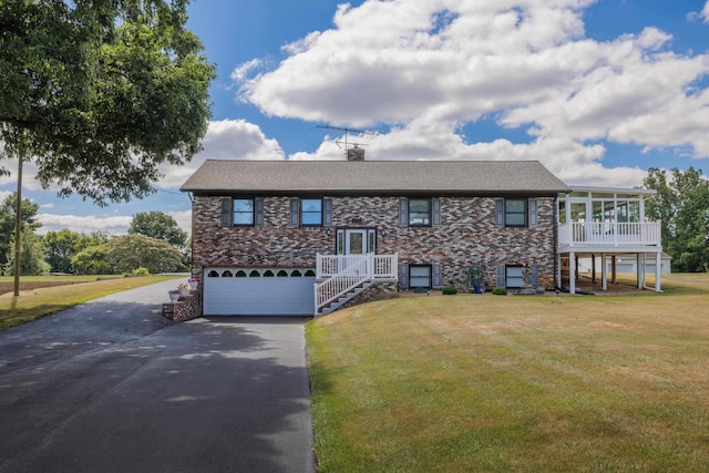
<path fill-rule="evenodd" d="M 63 281 L 64 284 L 61 286 L 33 287 L 29 290 L 21 290 L 18 298 L 14 297 L 12 289 L 1 295 L 0 330 L 69 309 L 72 306 L 107 296 L 109 294 L 175 278 L 184 279 L 186 276 L 105 276 L 100 278 L 101 280 L 96 280 L 96 276 L 22 277 L 21 281 L 29 287 L 42 286 L 43 282 L 55 284 L 56 281 Z M 11 280 L 11 277 L 3 277 L 0 278 L 0 284 Z"/>

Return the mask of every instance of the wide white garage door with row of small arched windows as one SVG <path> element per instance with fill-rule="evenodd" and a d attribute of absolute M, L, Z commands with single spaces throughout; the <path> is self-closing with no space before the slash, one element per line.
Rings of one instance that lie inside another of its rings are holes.
<path fill-rule="evenodd" d="M 315 270 L 206 268 L 205 316 L 311 316 Z"/>

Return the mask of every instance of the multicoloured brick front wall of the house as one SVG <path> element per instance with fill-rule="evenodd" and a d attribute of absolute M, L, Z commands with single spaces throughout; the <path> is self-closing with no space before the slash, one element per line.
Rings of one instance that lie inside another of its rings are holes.
<path fill-rule="evenodd" d="M 220 196 L 195 196 L 193 274 L 204 267 L 311 267 L 335 254 L 337 228 L 377 228 L 377 253 L 400 263 L 440 264 L 443 285 L 466 287 L 467 269 L 484 264 L 487 287 L 497 265 L 537 265 L 540 286 L 554 287 L 554 200 L 537 198 L 535 228 L 499 228 L 492 197 L 441 197 L 440 227 L 400 227 L 399 197 L 330 197 L 332 226 L 289 226 L 290 197 L 266 197 L 263 227 L 222 227 Z"/>

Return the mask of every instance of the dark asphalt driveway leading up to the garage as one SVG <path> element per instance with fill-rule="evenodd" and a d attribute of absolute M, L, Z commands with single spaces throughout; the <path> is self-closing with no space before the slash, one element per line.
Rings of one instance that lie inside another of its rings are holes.
<path fill-rule="evenodd" d="M 315 471 L 304 319 L 172 323 L 173 286 L 0 332 L 0 471 Z"/>

